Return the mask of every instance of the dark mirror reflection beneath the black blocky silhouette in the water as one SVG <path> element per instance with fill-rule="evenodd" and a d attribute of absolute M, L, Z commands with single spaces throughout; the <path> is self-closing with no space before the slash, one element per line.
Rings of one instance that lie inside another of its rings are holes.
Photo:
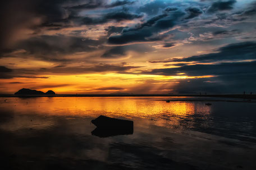
<path fill-rule="evenodd" d="M 92 131 L 92 135 L 99 136 L 100 138 L 107 138 L 109 136 L 117 136 L 117 135 L 132 135 L 133 127 L 129 129 L 103 129 L 103 128 L 95 128 Z"/>

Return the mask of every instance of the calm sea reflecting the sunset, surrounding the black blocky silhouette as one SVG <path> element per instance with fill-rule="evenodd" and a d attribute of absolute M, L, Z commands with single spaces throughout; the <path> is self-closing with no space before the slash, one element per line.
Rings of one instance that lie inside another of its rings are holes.
<path fill-rule="evenodd" d="M 256 169 L 256 103 L 194 99 L 0 98 L 0 169 Z M 99 115 L 134 133 L 92 135 Z"/>

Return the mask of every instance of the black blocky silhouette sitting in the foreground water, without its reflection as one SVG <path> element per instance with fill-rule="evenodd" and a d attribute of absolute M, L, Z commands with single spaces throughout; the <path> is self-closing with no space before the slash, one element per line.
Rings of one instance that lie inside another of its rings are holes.
<path fill-rule="evenodd" d="M 133 129 L 133 121 L 131 120 L 115 119 L 102 115 L 92 120 L 92 123 L 101 129 Z"/>

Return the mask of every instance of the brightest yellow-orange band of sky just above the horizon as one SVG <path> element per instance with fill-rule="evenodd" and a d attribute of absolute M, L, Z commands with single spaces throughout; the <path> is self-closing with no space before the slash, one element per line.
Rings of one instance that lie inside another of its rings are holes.
<path fill-rule="evenodd" d="M 113 93 L 118 91 L 130 93 L 129 88 L 139 86 L 139 84 L 144 84 L 147 81 L 153 81 L 151 83 L 158 84 L 158 86 L 156 88 L 152 88 L 151 93 L 166 93 L 166 91 L 173 90 L 172 88 L 170 88 L 170 86 L 172 86 L 172 84 L 177 83 L 177 79 L 214 77 L 214 75 L 191 77 L 188 75 L 164 76 L 149 74 L 118 73 L 37 76 L 49 78 L 3 79 L 3 86 L 1 87 L 1 91 L 3 91 L 2 89 L 5 89 L 6 93 L 14 93 L 21 88 L 31 88 L 43 92 L 47 92 L 49 89 L 52 89 L 58 94 Z M 5 84 L 7 84 L 6 88 L 4 88 Z M 163 84 L 170 84 L 170 86 L 160 89 L 160 87 L 163 86 Z M 117 87 L 120 89 L 102 89 L 107 87 Z"/>

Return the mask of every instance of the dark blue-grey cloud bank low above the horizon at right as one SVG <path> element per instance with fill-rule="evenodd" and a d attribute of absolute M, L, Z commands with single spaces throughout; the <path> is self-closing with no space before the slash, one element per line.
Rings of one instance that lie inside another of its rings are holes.
<path fill-rule="evenodd" d="M 173 65 L 173 64 L 170 64 Z M 153 69 L 144 74 L 189 76 L 214 75 L 216 77 L 193 78 L 180 80 L 177 86 L 172 87 L 176 93 L 237 93 L 255 91 L 256 62 L 220 63 L 180 65 L 179 68 Z"/>

